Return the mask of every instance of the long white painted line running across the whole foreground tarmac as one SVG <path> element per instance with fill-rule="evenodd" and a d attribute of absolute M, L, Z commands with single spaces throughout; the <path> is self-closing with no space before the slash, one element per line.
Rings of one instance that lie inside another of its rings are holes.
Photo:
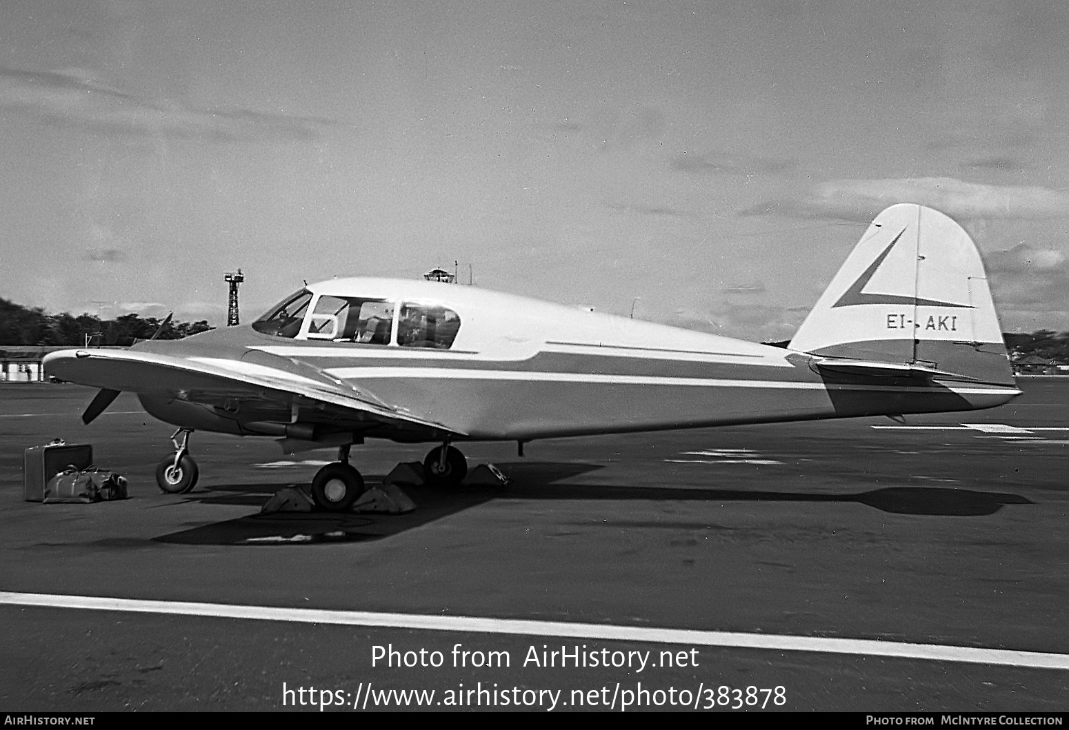
<path fill-rule="evenodd" d="M 370 611 L 327 610 L 319 608 L 279 608 L 183 601 L 141 601 L 89 595 L 13 593 L 0 591 L 0 604 L 84 608 L 91 610 L 168 613 L 260 621 L 290 621 L 344 626 L 381 626 L 425 631 L 468 632 L 475 634 L 512 634 L 516 636 L 554 636 L 648 643 L 682 643 L 695 647 L 727 647 L 771 651 L 807 651 L 820 654 L 855 654 L 933 662 L 963 662 L 1038 669 L 1069 669 L 1069 654 L 980 649 L 936 643 L 908 643 L 873 639 L 846 639 L 819 636 L 744 634 L 741 632 L 616 626 L 598 623 L 492 619 L 474 616 L 429 616 L 420 613 L 375 613 Z"/>

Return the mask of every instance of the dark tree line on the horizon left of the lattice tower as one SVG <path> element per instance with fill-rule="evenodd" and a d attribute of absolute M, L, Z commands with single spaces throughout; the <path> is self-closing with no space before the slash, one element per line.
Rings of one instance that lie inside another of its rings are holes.
<path fill-rule="evenodd" d="M 48 314 L 40 307 L 24 307 L 0 297 L 0 345 L 131 345 L 148 340 L 164 320 L 123 314 L 102 320 L 95 314 Z M 160 340 L 179 340 L 214 329 L 206 320 L 169 322 Z"/>

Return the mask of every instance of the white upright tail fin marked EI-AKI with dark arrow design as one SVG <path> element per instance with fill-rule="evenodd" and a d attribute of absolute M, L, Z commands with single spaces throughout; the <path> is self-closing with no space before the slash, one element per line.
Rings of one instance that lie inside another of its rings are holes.
<path fill-rule="evenodd" d="M 1013 384 L 976 245 L 914 203 L 876 217 L 790 347 Z"/>

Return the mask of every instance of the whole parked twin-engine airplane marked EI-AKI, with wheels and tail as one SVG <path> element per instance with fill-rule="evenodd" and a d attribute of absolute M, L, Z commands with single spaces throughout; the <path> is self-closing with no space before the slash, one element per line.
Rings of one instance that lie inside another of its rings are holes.
<path fill-rule="evenodd" d="M 350 447 L 433 442 L 428 479 L 465 476 L 460 441 L 988 408 L 1013 384 L 983 264 L 965 231 L 915 204 L 869 226 L 787 348 L 468 286 L 335 279 L 251 325 L 128 351 L 45 358 L 61 380 L 120 391 L 177 426 L 164 492 L 197 482 L 193 430 L 338 448 L 312 480 L 344 510 L 363 491 Z"/>

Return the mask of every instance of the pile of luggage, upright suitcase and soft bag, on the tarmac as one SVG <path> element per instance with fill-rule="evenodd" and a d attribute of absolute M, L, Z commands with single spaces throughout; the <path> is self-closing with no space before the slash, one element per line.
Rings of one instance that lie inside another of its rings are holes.
<path fill-rule="evenodd" d="M 93 447 L 51 444 L 26 450 L 25 496 L 32 502 L 99 502 L 126 499 L 126 478 L 93 466 Z"/>

